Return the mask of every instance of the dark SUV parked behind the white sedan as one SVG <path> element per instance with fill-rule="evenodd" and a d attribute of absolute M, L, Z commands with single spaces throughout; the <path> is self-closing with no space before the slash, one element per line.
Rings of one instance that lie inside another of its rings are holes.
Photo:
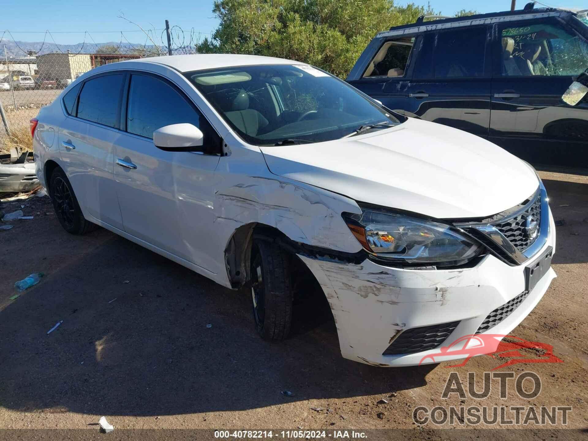
<path fill-rule="evenodd" d="M 425 19 L 377 34 L 346 81 L 393 111 L 483 136 L 537 168 L 588 172 L 588 95 L 562 100 L 588 68 L 586 11 L 530 4 Z"/>

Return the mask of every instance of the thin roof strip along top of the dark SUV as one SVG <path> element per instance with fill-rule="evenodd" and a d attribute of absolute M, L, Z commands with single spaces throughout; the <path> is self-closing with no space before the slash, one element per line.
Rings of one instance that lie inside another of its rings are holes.
<path fill-rule="evenodd" d="M 458 28 L 462 26 L 487 25 L 497 22 L 516 21 L 523 19 L 541 18 L 545 16 L 570 16 L 574 12 L 556 8 L 520 9 L 517 11 L 490 12 L 463 17 L 440 18 L 424 21 L 420 16 L 415 23 L 392 26 L 388 31 L 379 32 L 375 38 L 382 38 L 396 34 L 412 34 L 414 32 L 434 31 L 436 29 Z"/>

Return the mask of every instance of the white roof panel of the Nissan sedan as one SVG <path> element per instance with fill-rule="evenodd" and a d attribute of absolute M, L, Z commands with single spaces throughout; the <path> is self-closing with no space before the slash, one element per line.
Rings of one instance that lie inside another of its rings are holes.
<path fill-rule="evenodd" d="M 153 56 L 151 58 L 139 58 L 120 63 L 155 63 L 169 66 L 180 72 L 204 71 L 206 69 L 227 68 L 231 66 L 253 66 L 264 64 L 306 64 L 299 61 L 274 58 L 272 56 L 259 55 L 235 55 L 235 54 L 193 54 L 193 55 L 168 55 Z M 115 63 L 112 63 L 113 65 Z M 116 63 L 118 64 L 118 63 Z"/>

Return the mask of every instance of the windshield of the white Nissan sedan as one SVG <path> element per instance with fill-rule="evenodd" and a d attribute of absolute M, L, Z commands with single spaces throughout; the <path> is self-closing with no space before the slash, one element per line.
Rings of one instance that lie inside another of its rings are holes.
<path fill-rule="evenodd" d="M 399 120 L 347 83 L 308 65 L 242 66 L 185 74 L 246 142 L 331 141 Z"/>

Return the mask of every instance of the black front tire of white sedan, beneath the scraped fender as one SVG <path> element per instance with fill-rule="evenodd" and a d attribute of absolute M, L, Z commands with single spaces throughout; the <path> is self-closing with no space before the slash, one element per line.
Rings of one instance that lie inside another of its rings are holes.
<path fill-rule="evenodd" d="M 275 243 L 256 240 L 250 268 L 257 332 L 265 340 L 283 340 L 288 337 L 292 323 L 290 255 Z"/>

